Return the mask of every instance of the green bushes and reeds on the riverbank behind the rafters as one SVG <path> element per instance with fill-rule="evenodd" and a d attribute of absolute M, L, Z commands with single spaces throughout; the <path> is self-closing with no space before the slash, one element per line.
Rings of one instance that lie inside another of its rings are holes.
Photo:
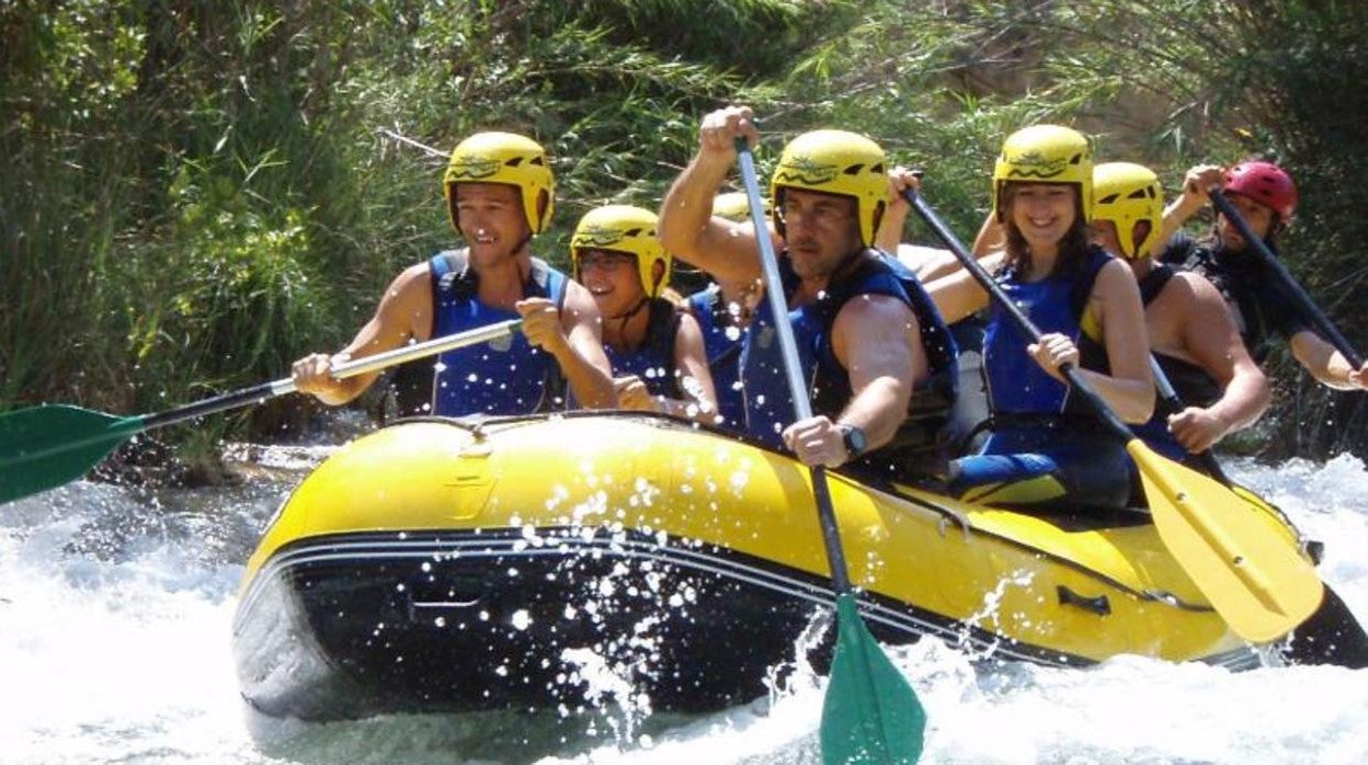
<path fill-rule="evenodd" d="M 1033 120 L 1170 189 L 1270 155 L 1304 190 L 1283 252 L 1364 348 L 1364 29 L 1334 0 L 0 3 L 0 408 L 157 411 L 337 348 L 451 239 L 443 157 L 382 130 L 538 137 L 558 178 L 539 248 L 564 260 L 581 212 L 654 205 L 733 100 L 767 118 L 762 170 L 796 131 L 854 127 L 925 167 L 966 237 L 1003 135 Z M 1368 449 L 1363 396 L 1278 369 L 1260 445 Z M 269 438 L 278 415 L 194 438 Z"/>

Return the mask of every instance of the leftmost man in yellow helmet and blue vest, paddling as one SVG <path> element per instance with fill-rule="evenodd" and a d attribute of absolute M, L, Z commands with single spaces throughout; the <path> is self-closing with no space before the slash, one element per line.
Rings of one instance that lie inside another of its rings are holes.
<path fill-rule="evenodd" d="M 554 207 L 544 149 L 512 133 L 477 133 L 451 152 L 442 190 L 466 246 L 404 270 L 346 348 L 294 363 L 297 389 L 345 404 L 379 374 L 338 380 L 330 374 L 334 364 L 521 317 L 521 334 L 512 341 L 447 352 L 428 364 L 424 409 L 521 415 L 564 409 L 570 397 L 587 408 L 614 406 L 592 296 L 531 253 L 532 237 L 546 230 Z"/>

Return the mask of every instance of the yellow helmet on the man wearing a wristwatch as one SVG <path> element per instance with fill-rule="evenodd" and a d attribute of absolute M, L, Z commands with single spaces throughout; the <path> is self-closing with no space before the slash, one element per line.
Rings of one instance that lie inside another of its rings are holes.
<path fill-rule="evenodd" d="M 854 197 L 860 244 L 870 246 L 888 203 L 884 161 L 884 149 L 863 135 L 845 130 L 803 133 L 784 146 L 774 178 L 770 179 L 772 204 L 774 209 L 780 209 L 781 189 Z M 782 224 L 781 220 L 776 223 Z"/>

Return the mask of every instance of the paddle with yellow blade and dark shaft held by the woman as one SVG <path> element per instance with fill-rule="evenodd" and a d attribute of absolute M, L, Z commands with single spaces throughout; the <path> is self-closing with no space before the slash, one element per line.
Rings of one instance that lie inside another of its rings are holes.
<path fill-rule="evenodd" d="M 1033 342 L 1040 330 L 914 189 L 903 193 L 918 215 Z M 1071 364 L 1060 372 L 1116 438 L 1140 471 L 1159 538 L 1174 560 L 1242 638 L 1268 642 L 1301 624 L 1324 593 L 1316 569 L 1228 487 L 1152 452 Z"/>

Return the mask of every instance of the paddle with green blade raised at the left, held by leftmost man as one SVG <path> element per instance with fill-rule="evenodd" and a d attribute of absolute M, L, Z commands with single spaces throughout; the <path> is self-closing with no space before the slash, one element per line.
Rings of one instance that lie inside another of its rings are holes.
<path fill-rule="evenodd" d="M 440 337 L 376 353 L 332 369 L 338 379 L 509 335 L 521 320 Z M 42 405 L 0 415 L 0 504 L 62 486 L 90 472 L 124 439 L 155 427 L 226 412 L 294 391 L 290 378 L 224 393 L 156 415 L 119 417 L 70 405 Z"/>

